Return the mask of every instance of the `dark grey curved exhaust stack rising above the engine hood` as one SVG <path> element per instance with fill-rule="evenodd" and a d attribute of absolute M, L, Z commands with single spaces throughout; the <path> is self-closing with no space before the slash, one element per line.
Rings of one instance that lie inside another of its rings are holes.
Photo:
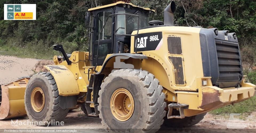
<path fill-rule="evenodd" d="M 174 1 L 171 1 L 171 3 L 165 8 L 163 11 L 163 19 L 165 25 L 173 26 L 173 13 L 175 12 L 176 5 Z"/>

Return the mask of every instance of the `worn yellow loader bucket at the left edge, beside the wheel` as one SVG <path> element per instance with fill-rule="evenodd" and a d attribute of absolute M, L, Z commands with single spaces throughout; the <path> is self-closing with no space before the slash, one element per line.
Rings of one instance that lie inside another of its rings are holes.
<path fill-rule="evenodd" d="M 24 94 L 29 79 L 22 78 L 9 84 L 1 85 L 0 120 L 26 116 Z"/>

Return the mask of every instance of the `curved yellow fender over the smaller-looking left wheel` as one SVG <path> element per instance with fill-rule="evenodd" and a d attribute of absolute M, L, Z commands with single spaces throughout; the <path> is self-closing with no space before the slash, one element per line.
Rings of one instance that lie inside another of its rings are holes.
<path fill-rule="evenodd" d="M 79 88 L 74 74 L 64 65 L 46 65 L 44 66 L 53 75 L 56 81 L 59 95 L 70 96 L 78 95 Z"/>

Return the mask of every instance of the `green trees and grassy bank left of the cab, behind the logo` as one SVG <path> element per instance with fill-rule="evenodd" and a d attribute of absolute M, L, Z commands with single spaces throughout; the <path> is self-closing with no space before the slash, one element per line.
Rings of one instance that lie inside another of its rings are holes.
<path fill-rule="evenodd" d="M 37 4 L 37 20 L 3 20 L 3 4 Z M 88 4 L 88 5 L 87 5 Z M 1 54 L 51 59 L 52 45 L 62 44 L 67 53 L 86 51 L 88 33 L 84 15 L 95 3 L 86 1 L 0 1 Z"/>

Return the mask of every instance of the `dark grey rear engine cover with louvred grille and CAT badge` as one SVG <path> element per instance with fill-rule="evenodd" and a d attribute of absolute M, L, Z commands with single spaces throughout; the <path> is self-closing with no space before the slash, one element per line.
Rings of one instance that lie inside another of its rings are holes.
<path fill-rule="evenodd" d="M 212 84 L 219 88 L 236 87 L 243 72 L 237 38 L 232 34 L 201 28 L 200 45 L 205 77 L 212 77 Z"/>

